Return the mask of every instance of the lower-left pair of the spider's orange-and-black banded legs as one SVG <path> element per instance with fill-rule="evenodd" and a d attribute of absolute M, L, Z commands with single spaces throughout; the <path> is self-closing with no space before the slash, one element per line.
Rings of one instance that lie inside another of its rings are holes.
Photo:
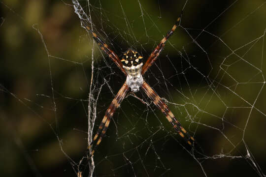
<path fill-rule="evenodd" d="M 115 110 L 120 106 L 121 102 L 123 101 L 123 99 L 125 98 L 127 92 L 129 90 L 129 87 L 127 85 L 127 83 L 124 83 L 124 85 L 121 87 L 121 89 L 118 91 L 118 93 L 116 94 L 115 98 L 113 99 L 113 101 L 111 102 L 110 106 L 108 107 L 108 109 L 105 112 L 105 115 L 100 123 L 100 126 L 98 128 L 98 131 L 96 133 L 96 135 L 93 138 L 92 143 L 88 146 L 88 149 L 92 147 L 92 144 L 98 139 L 95 147 L 93 148 L 93 151 L 91 152 L 91 155 L 94 154 L 95 149 L 99 146 L 102 137 L 104 136 L 104 134 L 106 133 L 106 130 L 109 126 L 110 120 L 114 115 Z"/>

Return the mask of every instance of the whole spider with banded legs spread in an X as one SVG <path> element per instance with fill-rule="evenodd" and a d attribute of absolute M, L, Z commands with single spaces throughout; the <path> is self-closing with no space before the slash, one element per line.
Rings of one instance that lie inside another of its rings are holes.
<path fill-rule="evenodd" d="M 150 68 L 162 50 L 164 49 L 167 39 L 173 34 L 174 30 L 178 25 L 180 25 L 181 15 L 177 18 L 174 26 L 171 30 L 166 33 L 166 36 L 161 40 L 157 45 L 154 51 L 151 53 L 145 64 L 143 65 L 142 59 L 135 50 L 129 49 L 124 54 L 122 59 L 119 59 L 118 56 L 105 44 L 92 29 L 86 25 L 86 30 L 93 35 L 94 40 L 98 43 L 100 49 L 108 55 L 110 59 L 120 68 L 120 70 L 127 76 L 127 79 L 121 89 L 116 94 L 115 98 L 111 102 L 110 106 L 106 110 L 106 113 L 100 123 L 98 131 L 93 138 L 93 141 L 88 146 L 88 149 L 92 147 L 92 144 L 96 142 L 95 147 L 93 148 L 91 155 L 94 154 L 95 149 L 99 146 L 106 130 L 109 126 L 110 120 L 113 117 L 116 109 L 120 106 L 121 102 L 125 98 L 127 92 L 131 89 L 133 92 L 139 91 L 141 88 L 145 94 L 153 101 L 153 103 L 160 109 L 166 116 L 167 120 L 172 124 L 173 128 L 178 132 L 178 134 L 185 138 L 186 142 L 189 145 L 192 145 L 192 142 L 195 143 L 195 140 L 189 133 L 181 126 L 180 122 L 176 120 L 173 113 L 170 111 L 166 103 L 162 98 L 145 82 L 143 75 Z"/>

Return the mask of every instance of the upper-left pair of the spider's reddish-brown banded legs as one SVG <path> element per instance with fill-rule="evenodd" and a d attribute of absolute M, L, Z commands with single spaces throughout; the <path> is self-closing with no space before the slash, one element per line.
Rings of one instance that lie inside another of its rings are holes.
<path fill-rule="evenodd" d="M 114 63 L 121 69 L 121 71 L 127 75 L 125 69 L 123 68 L 123 64 L 122 62 L 119 60 L 118 56 L 114 53 L 114 51 L 112 51 L 108 45 L 106 43 L 104 43 L 99 37 L 98 35 L 93 32 L 88 26 L 86 26 L 87 31 L 89 31 L 90 33 L 92 33 L 93 35 L 93 39 L 97 42 L 97 44 L 99 45 L 100 49 L 105 52 L 108 57 L 110 59 L 112 59 L 114 61 Z"/>

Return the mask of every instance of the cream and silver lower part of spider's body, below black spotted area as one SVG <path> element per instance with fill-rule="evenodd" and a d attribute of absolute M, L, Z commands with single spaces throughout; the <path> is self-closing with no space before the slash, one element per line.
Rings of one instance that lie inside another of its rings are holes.
<path fill-rule="evenodd" d="M 133 92 L 138 91 L 143 84 L 143 78 L 141 75 L 142 65 L 143 63 L 141 62 L 136 66 L 123 66 L 123 68 L 125 68 L 126 70 L 126 73 L 128 74 L 127 84 Z"/>

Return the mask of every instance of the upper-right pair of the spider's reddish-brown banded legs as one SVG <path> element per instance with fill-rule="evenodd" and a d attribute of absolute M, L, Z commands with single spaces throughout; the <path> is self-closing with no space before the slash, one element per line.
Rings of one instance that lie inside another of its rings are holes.
<path fill-rule="evenodd" d="M 154 51 L 151 53 L 151 55 L 149 56 L 149 58 L 147 59 L 147 61 L 145 62 L 145 64 L 142 67 L 142 71 L 141 71 L 142 75 L 149 69 L 149 67 L 151 67 L 153 65 L 153 63 L 155 62 L 157 57 L 161 54 L 162 50 L 165 47 L 165 43 L 166 43 L 167 39 L 173 34 L 176 27 L 179 25 L 180 19 L 181 19 L 181 15 L 177 18 L 172 29 L 166 33 L 166 36 L 161 40 L 160 44 L 158 44 L 156 46 L 156 48 L 154 49 Z"/>

